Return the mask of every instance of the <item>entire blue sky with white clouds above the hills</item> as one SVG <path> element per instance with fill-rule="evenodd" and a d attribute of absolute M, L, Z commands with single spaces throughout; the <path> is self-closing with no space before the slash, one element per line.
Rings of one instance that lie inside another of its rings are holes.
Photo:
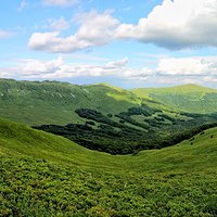
<path fill-rule="evenodd" d="M 0 0 L 0 77 L 217 88 L 217 0 Z"/>

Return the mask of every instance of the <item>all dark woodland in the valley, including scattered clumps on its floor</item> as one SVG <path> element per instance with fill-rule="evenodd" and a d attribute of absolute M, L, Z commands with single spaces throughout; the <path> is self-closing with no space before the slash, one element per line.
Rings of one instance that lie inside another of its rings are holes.
<path fill-rule="evenodd" d="M 86 119 L 85 124 L 35 128 L 63 136 L 91 150 L 129 154 L 174 145 L 217 126 L 217 114 L 165 113 L 148 105 L 130 107 L 114 117 L 91 108 L 75 112 Z"/>

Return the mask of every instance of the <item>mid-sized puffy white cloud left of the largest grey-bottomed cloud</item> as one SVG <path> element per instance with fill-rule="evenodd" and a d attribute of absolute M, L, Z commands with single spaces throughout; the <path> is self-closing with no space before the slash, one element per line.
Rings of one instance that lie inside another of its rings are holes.
<path fill-rule="evenodd" d="M 60 31 L 35 33 L 28 41 L 28 47 L 47 52 L 67 53 L 103 46 L 114 38 L 114 30 L 119 24 L 108 12 L 81 14 L 76 17 L 76 21 L 81 25 L 75 35 L 62 38 Z"/>

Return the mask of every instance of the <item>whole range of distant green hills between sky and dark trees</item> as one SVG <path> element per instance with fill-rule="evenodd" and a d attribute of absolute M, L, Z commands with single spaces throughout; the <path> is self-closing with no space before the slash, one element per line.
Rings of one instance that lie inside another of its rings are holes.
<path fill-rule="evenodd" d="M 107 84 L 77 86 L 58 81 L 0 79 L 1 117 L 27 125 L 84 124 L 77 108 L 118 114 L 145 104 L 164 112 L 217 111 L 217 90 L 194 85 L 124 90 Z"/>

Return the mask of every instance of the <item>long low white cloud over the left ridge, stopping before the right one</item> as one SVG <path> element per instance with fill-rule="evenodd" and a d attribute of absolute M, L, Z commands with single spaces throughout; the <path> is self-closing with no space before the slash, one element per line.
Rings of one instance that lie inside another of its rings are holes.
<path fill-rule="evenodd" d="M 130 68 L 127 64 L 126 58 L 107 62 L 104 65 L 66 63 L 62 58 L 52 61 L 23 60 L 14 67 L 1 68 L 0 76 L 18 76 L 24 79 L 60 79 L 80 76 L 116 76 L 123 79 L 144 79 L 150 75 L 150 69 Z"/>

